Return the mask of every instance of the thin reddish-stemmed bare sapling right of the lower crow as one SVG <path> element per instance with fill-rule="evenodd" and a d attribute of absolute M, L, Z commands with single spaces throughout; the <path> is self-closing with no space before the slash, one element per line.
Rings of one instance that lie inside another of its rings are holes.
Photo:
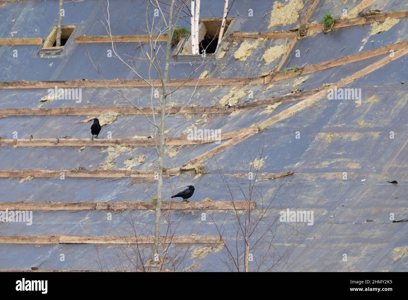
<path fill-rule="evenodd" d="M 286 184 L 287 177 L 273 179 L 271 174 L 259 173 L 263 149 L 264 144 L 261 143 L 255 158 L 251 157 L 248 150 L 251 159 L 249 172 L 243 164 L 243 169 L 246 171 L 229 174 L 214 158 L 214 167 L 226 187 L 228 198 L 233 206 L 233 209 L 224 216 L 223 220 L 216 220 L 215 216 L 210 216 L 225 245 L 225 251 L 223 251 L 220 260 L 229 271 L 271 271 L 282 263 L 287 266 L 292 249 L 285 249 L 283 253 L 279 251 L 276 247 L 278 243 L 276 243 L 275 236 L 280 226 L 290 227 L 290 229 L 285 229 L 285 232 L 288 233 L 286 238 L 289 236 L 295 238 L 298 234 L 293 224 L 279 222 L 279 211 L 282 210 L 282 207 L 277 201 L 277 194 Z M 262 184 L 260 184 L 264 180 L 275 181 L 273 191 L 268 191 L 266 195 L 262 191 Z M 236 191 L 237 193 L 235 193 Z M 237 199 L 246 202 L 245 209 L 236 207 Z M 231 214 L 235 216 L 236 220 L 236 225 L 232 231 L 224 228 L 224 221 Z M 253 264 L 250 269 L 255 255 L 256 264 Z"/>

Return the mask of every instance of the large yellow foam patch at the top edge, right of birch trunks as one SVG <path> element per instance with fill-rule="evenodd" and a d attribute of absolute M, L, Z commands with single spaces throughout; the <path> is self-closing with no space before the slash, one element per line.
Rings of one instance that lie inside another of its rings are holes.
<path fill-rule="evenodd" d="M 303 0 L 285 0 L 285 2 L 286 5 L 278 1 L 273 3 L 268 29 L 279 24 L 293 24 L 299 19 L 298 11 L 304 7 Z"/>

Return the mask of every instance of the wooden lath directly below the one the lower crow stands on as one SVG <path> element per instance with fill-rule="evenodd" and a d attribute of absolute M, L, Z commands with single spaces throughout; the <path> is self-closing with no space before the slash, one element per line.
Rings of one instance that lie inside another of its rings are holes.
<path fill-rule="evenodd" d="M 215 244 L 220 236 L 168 236 L 161 243 Z M 0 236 L 0 244 L 153 244 L 153 236 Z"/>

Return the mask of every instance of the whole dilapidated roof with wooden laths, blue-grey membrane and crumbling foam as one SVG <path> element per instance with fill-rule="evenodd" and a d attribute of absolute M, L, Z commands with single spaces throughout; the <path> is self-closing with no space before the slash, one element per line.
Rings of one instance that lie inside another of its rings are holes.
<path fill-rule="evenodd" d="M 110 2 L 115 35 L 144 34 L 144 5 Z M 222 18 L 223 2 L 201 2 L 200 17 Z M 126 202 L 151 203 L 157 193 L 151 177 L 157 155 L 149 138 L 154 128 L 104 85 L 87 52 L 104 79 L 137 106 L 149 109 L 151 89 L 106 57 L 110 43 L 75 42 L 74 36 L 106 36 L 98 21 L 102 5 L 64 2 L 63 24 L 75 30 L 62 56 L 40 57 L 35 44 L 0 46 L 0 210 L 38 204 L 27 209 L 33 210 L 31 226 L 0 223 L 0 269 L 143 269 L 134 241 L 124 237 L 152 235 L 154 205 L 123 208 Z M 250 271 L 407 269 L 408 223 L 392 222 L 408 219 L 407 5 L 235 0 L 228 13 L 234 22 L 216 59 L 169 100 L 163 196 L 170 200 L 190 184 L 195 192 L 184 209 L 176 204 L 162 218 L 161 234 L 171 222 L 177 237 L 167 249 L 167 270 L 236 271 L 228 249 L 242 245 L 235 242 L 238 220 L 248 216 L 242 208 L 251 187 L 254 216 L 263 215 L 251 236 Z M 355 15 L 343 17 L 344 9 Z M 57 10 L 55 1 L 0 1 L 0 38 L 45 40 Z M 368 13 L 373 10 L 379 12 Z M 339 18 L 329 32 L 319 24 L 326 12 Z M 183 20 L 179 25 L 189 26 Z M 116 47 L 133 56 L 147 49 L 137 42 Z M 173 59 L 174 82 L 200 64 Z M 138 69 L 147 77 L 146 66 Z M 208 75 L 197 81 L 203 72 Z M 55 84 L 81 88 L 82 102 L 43 101 Z M 361 102 L 329 100 L 327 89 L 334 86 L 357 89 Z M 112 142 L 91 143 L 88 120 L 94 117 L 105 123 L 100 137 L 110 132 Z M 225 136 L 220 144 L 186 144 L 194 127 L 220 129 Z M 251 171 L 256 181 L 247 179 Z M 60 172 L 67 174 L 64 180 Z M 231 201 L 242 208 L 222 207 Z M 82 202 L 87 207 L 78 207 Z M 281 222 L 279 212 L 286 209 L 313 211 L 313 224 Z M 140 242 L 144 258 L 149 247 Z M 245 249 L 236 252 L 243 259 Z"/>

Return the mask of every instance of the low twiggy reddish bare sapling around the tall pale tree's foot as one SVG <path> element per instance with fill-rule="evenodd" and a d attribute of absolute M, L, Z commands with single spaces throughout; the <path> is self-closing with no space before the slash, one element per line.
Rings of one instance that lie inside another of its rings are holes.
<path fill-rule="evenodd" d="M 171 186 L 177 186 L 178 178 L 175 184 Z M 172 192 L 174 192 L 172 188 Z M 146 193 L 148 193 L 146 191 Z M 156 198 L 154 195 L 149 195 L 149 197 L 155 202 Z M 148 222 L 144 220 L 149 220 L 149 213 L 146 212 L 133 211 L 131 209 L 126 209 L 124 211 L 117 211 L 117 218 L 121 218 L 123 222 L 120 222 L 120 226 L 117 228 L 121 233 L 125 232 L 126 236 L 131 236 L 135 238 L 135 243 L 127 244 L 125 240 L 123 243 L 116 244 L 117 247 L 112 248 L 102 248 L 99 249 L 98 245 L 95 245 L 95 262 L 100 270 L 111 269 L 114 271 L 128 271 L 136 270 L 142 272 L 151 271 L 152 268 L 157 268 L 157 271 L 204 271 L 205 267 L 201 267 L 199 264 L 193 262 L 192 264 L 188 262 L 191 259 L 190 250 L 193 247 L 193 243 L 186 244 L 173 244 L 173 238 L 176 232 L 181 231 L 186 234 L 186 228 L 180 228 L 183 224 L 185 212 L 175 211 L 172 208 L 173 202 L 169 203 L 168 209 L 163 213 L 164 218 L 164 228 L 162 228 L 162 235 L 160 239 L 165 241 L 162 243 L 160 253 L 157 253 L 155 258 L 159 261 L 156 263 L 155 259 L 152 259 L 151 253 L 154 250 L 154 244 L 144 243 L 141 239 L 142 233 L 150 233 Z M 175 215 L 175 216 L 173 216 Z M 138 220 L 135 222 L 135 220 Z M 197 235 L 200 233 L 201 228 L 197 226 L 191 226 L 187 230 L 187 234 Z M 120 234 L 113 234 L 112 231 L 104 232 L 106 236 L 110 236 L 117 239 Z M 102 252 L 101 252 L 102 250 Z"/>

